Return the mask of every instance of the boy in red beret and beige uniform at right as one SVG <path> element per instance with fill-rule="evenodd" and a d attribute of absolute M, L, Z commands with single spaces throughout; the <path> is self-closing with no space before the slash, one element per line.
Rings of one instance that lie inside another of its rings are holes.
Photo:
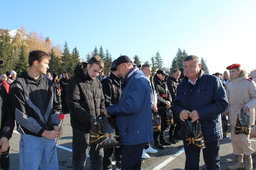
<path fill-rule="evenodd" d="M 232 64 L 226 69 L 229 70 L 231 81 L 226 85 L 227 97 L 229 102 L 228 109 L 224 114 L 228 114 L 230 131 L 231 131 L 231 143 L 233 146 L 234 155 L 237 160 L 234 166 L 229 166 L 229 170 L 252 170 L 252 158 L 253 152 L 251 148 L 251 142 L 249 136 L 245 134 L 235 134 L 235 126 L 237 115 L 243 108 L 244 113 L 250 115 L 250 125 L 254 125 L 256 107 L 256 84 L 245 77 L 247 72 L 240 69 L 240 64 Z M 243 163 L 243 156 L 245 155 L 245 166 Z"/>

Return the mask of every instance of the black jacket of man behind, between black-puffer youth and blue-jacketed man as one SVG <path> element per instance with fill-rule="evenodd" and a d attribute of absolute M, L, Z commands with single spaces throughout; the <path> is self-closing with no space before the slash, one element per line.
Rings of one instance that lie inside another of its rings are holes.
<path fill-rule="evenodd" d="M 121 78 L 116 77 L 111 72 L 109 77 L 101 81 L 106 108 L 113 104 L 119 103 L 122 94 L 120 80 Z"/>

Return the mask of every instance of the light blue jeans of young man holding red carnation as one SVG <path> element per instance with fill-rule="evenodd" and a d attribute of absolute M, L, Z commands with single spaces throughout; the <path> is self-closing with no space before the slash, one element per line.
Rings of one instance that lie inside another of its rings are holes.
<path fill-rule="evenodd" d="M 50 163 L 54 145 L 55 140 L 32 135 L 21 135 L 20 170 L 38 169 L 39 166 L 41 170 L 59 169 L 56 148 Z"/>

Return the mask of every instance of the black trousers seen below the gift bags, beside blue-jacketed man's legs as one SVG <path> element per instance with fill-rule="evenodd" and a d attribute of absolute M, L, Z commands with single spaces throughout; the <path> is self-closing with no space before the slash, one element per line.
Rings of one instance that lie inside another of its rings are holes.
<path fill-rule="evenodd" d="M 116 165 L 121 166 L 121 159 L 122 159 L 122 149 L 123 146 L 121 145 L 118 148 L 103 148 L 104 150 L 104 157 L 103 157 L 103 170 L 112 169 L 112 157 L 113 153 L 115 154 Z"/>

